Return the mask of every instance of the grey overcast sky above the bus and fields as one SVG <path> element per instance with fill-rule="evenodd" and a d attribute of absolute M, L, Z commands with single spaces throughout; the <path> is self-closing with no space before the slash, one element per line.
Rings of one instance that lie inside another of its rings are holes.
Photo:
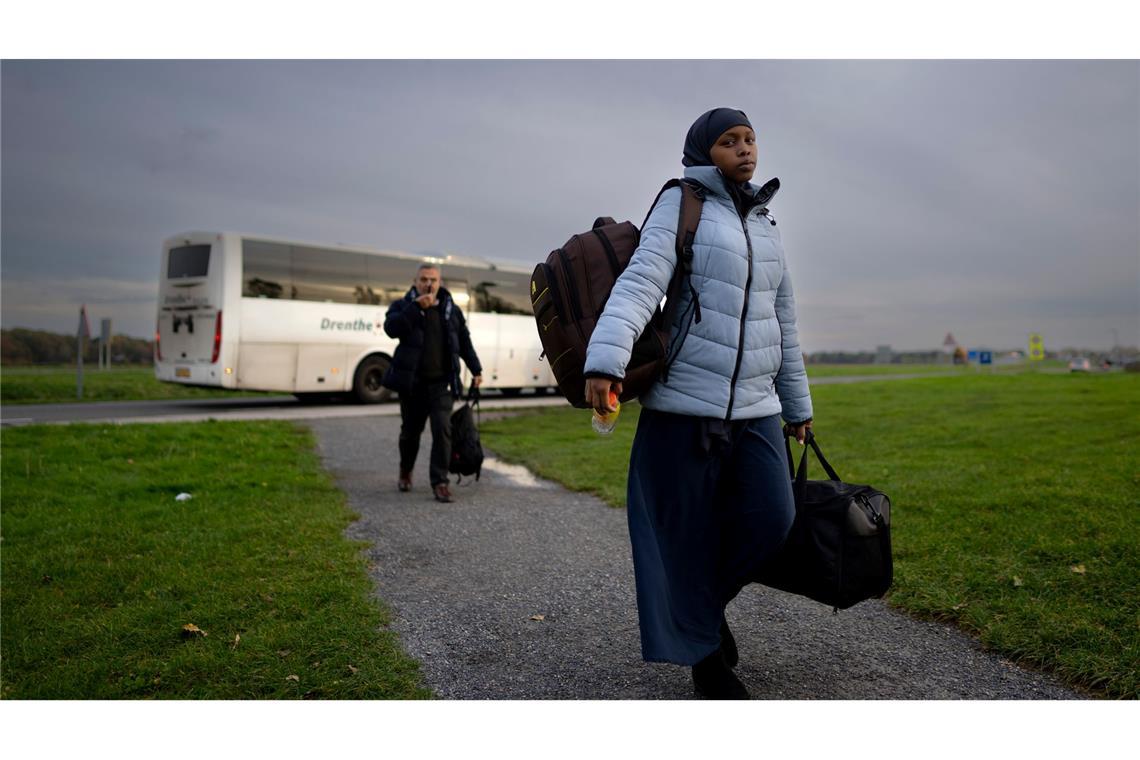
<path fill-rule="evenodd" d="M 192 229 L 529 267 L 641 223 L 732 106 L 807 351 L 1140 344 L 1137 62 L 5 60 L 0 92 L 5 327 L 149 336 Z"/>

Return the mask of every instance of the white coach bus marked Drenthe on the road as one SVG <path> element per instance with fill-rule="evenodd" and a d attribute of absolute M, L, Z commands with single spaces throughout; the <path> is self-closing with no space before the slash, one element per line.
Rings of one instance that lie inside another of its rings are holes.
<path fill-rule="evenodd" d="M 539 359 L 528 270 L 237 232 L 186 232 L 163 242 L 155 377 L 383 401 L 389 392 L 380 381 L 396 349 L 384 334 L 384 313 L 424 261 L 440 267 L 467 318 L 483 389 L 513 395 L 555 385 Z"/>

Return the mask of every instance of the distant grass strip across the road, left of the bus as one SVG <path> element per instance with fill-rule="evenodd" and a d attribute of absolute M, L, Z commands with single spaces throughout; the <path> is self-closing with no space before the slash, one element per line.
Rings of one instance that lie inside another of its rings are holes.
<path fill-rule="evenodd" d="M 264 395 L 253 391 L 222 391 L 162 383 L 150 367 L 83 367 L 83 398 L 75 398 L 75 367 L 5 367 L 0 373 L 3 403 L 74 403 L 78 401 L 149 401 L 164 399 L 226 399 Z"/>

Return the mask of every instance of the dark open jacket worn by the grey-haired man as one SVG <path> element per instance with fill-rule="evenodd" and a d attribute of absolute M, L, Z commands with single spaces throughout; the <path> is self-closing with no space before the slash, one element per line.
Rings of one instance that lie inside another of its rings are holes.
<path fill-rule="evenodd" d="M 410 392 L 416 384 L 416 368 L 420 367 L 420 356 L 424 350 L 424 312 L 416 303 L 420 293 L 412 288 L 407 294 L 388 308 L 384 316 L 384 332 L 389 337 L 399 341 L 392 363 L 384 373 L 383 385 L 397 393 Z M 440 316 L 447 335 L 447 353 L 451 359 L 451 373 L 448 382 L 451 395 L 459 398 L 463 385 L 459 383 L 459 358 L 467 363 L 472 375 L 482 375 L 483 367 L 479 363 L 475 349 L 471 345 L 471 333 L 463 312 L 455 305 L 451 294 L 441 287 L 435 294 L 439 301 Z"/>

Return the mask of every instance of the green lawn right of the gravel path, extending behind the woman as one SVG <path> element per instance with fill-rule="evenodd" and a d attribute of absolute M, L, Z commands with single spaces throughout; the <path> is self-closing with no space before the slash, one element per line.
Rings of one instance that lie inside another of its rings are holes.
<path fill-rule="evenodd" d="M 813 399 L 840 476 L 891 497 L 891 604 L 1076 687 L 1140 696 L 1140 377 L 969 373 Z M 483 441 L 622 506 L 637 411 L 608 438 L 559 408 L 488 420 Z"/>

